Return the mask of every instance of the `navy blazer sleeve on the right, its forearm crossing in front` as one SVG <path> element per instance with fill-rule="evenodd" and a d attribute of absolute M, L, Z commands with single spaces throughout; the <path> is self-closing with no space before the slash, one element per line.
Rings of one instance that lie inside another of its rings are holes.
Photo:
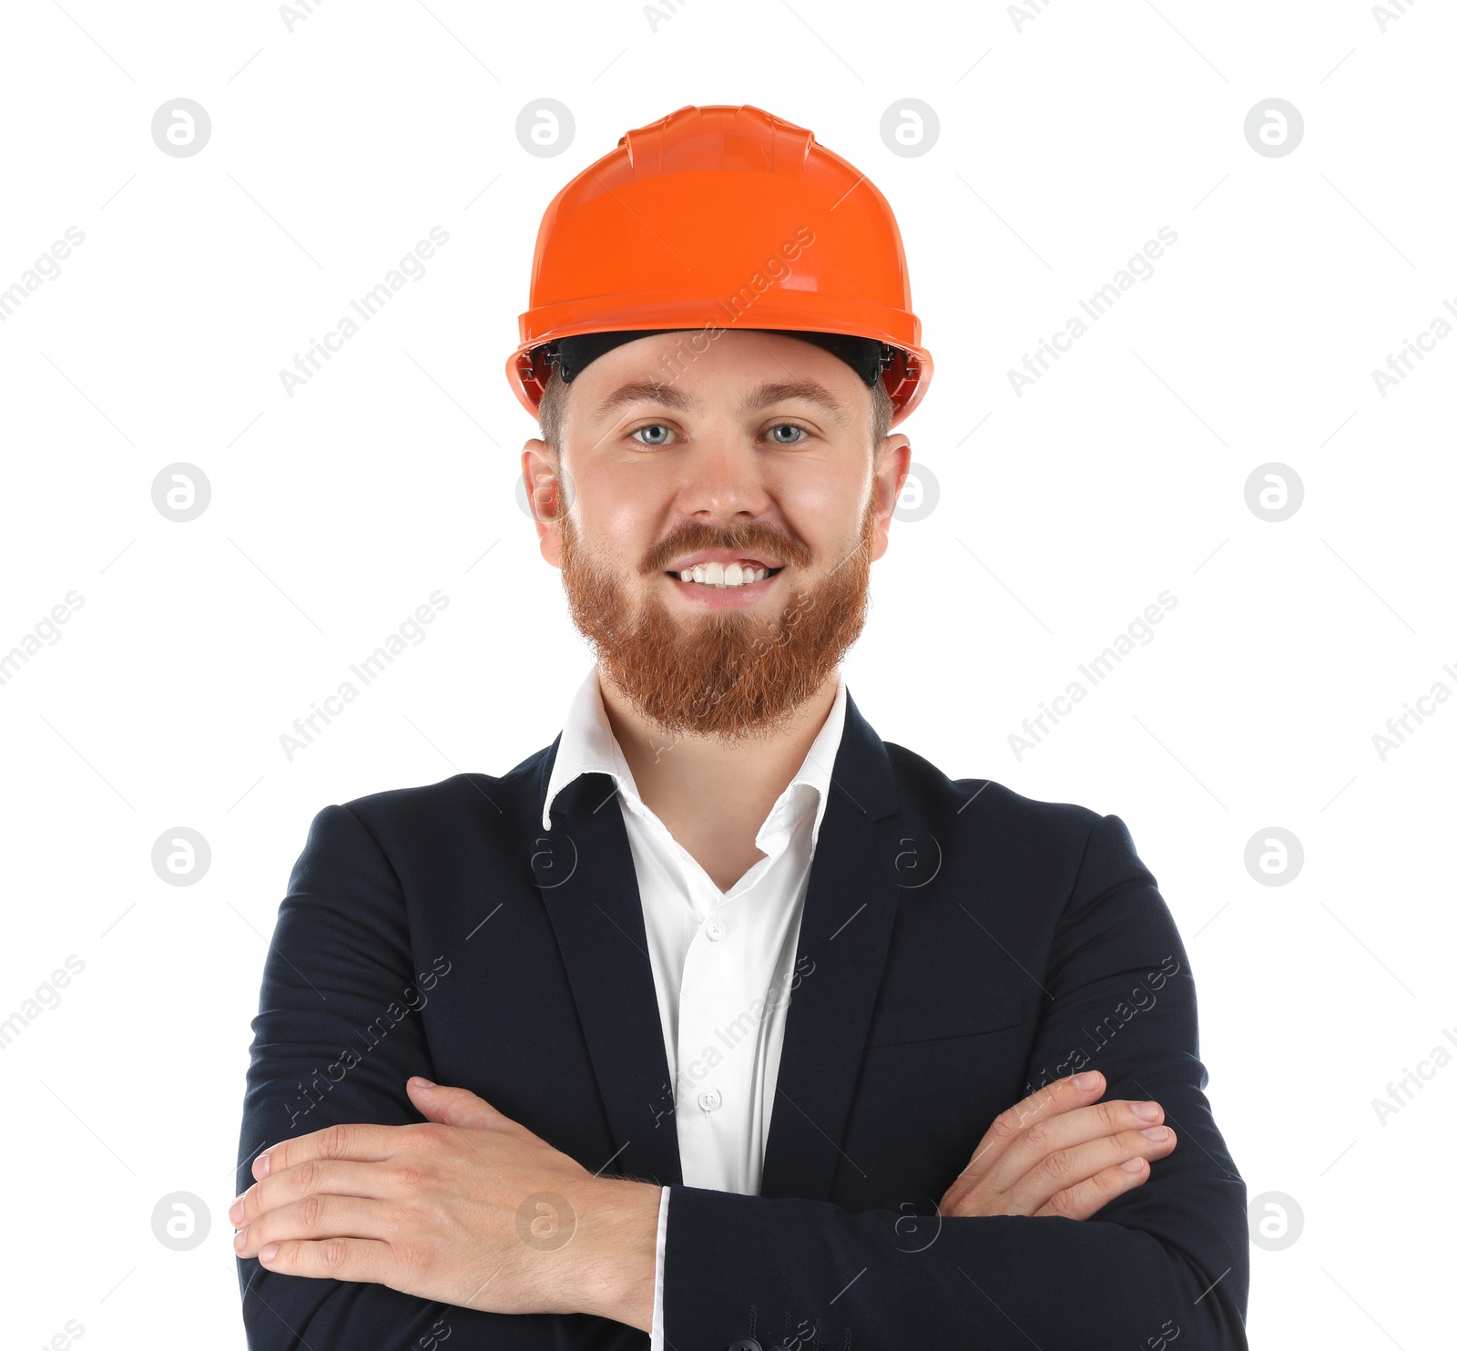
<path fill-rule="evenodd" d="M 667 1345 L 768 1348 L 794 1328 L 790 1351 L 1163 1351 L 1179 1336 L 1189 1351 L 1247 1351 L 1244 1182 L 1203 1096 L 1187 956 L 1118 816 L 1088 835 L 1042 984 L 1027 1092 L 1097 1068 L 1104 1099 L 1160 1102 L 1179 1143 L 1141 1186 L 1091 1220 L 849 1213 L 675 1186 Z"/>

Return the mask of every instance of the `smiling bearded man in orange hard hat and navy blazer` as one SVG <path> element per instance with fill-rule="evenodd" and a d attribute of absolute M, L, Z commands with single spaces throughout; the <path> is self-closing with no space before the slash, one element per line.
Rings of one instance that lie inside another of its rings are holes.
<path fill-rule="evenodd" d="M 551 204 L 508 375 L 597 666 L 508 774 L 315 819 L 251 1345 L 1246 1347 L 1123 822 L 946 778 L 839 678 L 930 372 L 889 205 L 803 128 L 685 108 Z"/>

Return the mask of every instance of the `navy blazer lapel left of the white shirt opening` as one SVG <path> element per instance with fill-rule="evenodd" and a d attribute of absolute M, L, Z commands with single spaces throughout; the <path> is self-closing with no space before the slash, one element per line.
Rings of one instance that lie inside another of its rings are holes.
<path fill-rule="evenodd" d="M 538 828 L 554 758 L 543 758 L 539 771 Z M 610 775 L 573 780 L 557 794 L 551 819 L 552 829 L 533 844 L 532 874 L 557 931 L 612 1128 L 612 1151 L 596 1166 L 680 1185 L 663 1020 L 632 850 Z"/>

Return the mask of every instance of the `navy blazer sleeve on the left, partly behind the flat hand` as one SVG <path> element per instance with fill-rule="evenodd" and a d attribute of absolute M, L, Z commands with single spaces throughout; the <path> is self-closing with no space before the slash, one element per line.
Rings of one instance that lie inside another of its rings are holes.
<path fill-rule="evenodd" d="M 436 1077 L 420 1017 L 440 974 L 434 956 L 412 956 L 399 879 L 358 816 L 319 812 L 264 965 L 239 1194 L 265 1146 L 337 1122 L 424 1119 L 405 1080 Z M 610 1319 L 484 1313 L 388 1285 L 283 1275 L 256 1258 L 237 1259 L 237 1278 L 251 1351 L 645 1351 L 648 1341 Z"/>

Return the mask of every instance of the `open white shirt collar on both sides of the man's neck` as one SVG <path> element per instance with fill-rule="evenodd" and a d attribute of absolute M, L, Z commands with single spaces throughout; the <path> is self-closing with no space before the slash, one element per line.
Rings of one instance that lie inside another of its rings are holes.
<path fill-rule="evenodd" d="M 845 730 L 845 681 L 836 673 L 835 702 L 825 718 L 825 726 L 810 743 L 798 772 L 769 809 L 769 815 L 755 837 L 758 848 L 765 850 L 766 842 L 793 831 L 809 807 L 810 796 L 803 791 L 804 788 L 814 790 L 814 826 L 810 834 L 810 847 L 813 848 L 814 842 L 819 841 L 820 822 L 825 819 L 825 809 L 829 804 L 830 771 L 835 768 L 835 756 Z M 583 774 L 610 775 L 631 810 L 640 816 L 653 816 L 638 794 L 632 770 L 622 755 L 618 739 L 612 735 L 612 724 L 608 721 L 608 713 L 602 704 L 602 685 L 596 666 L 587 672 L 567 711 L 567 723 L 561 730 L 557 759 L 546 784 L 546 800 L 542 803 L 543 831 L 551 829 L 551 806 L 557 794 Z"/>

